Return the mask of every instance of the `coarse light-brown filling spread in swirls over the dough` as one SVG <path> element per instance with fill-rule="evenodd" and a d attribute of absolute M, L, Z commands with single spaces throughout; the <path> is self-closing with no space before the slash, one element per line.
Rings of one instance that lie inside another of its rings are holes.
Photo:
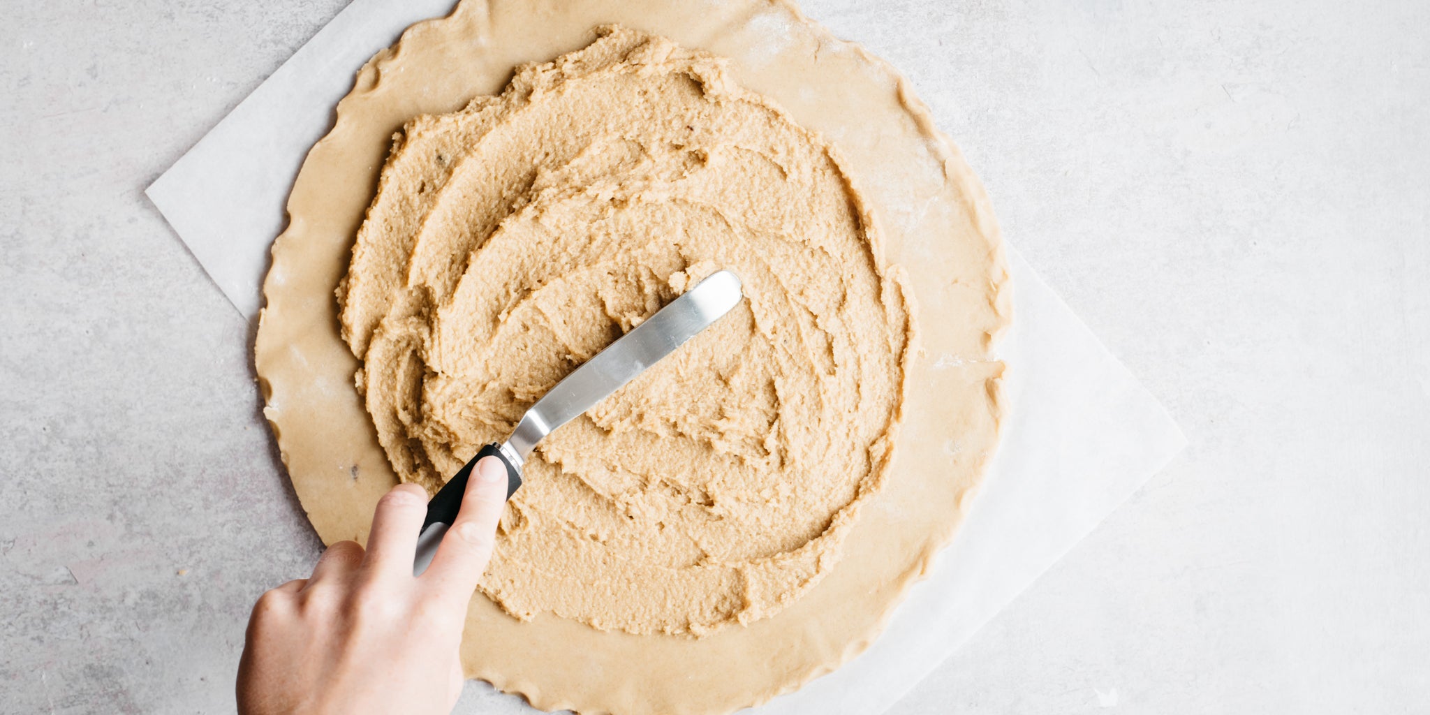
<path fill-rule="evenodd" d="M 436 490 L 721 267 L 745 300 L 546 436 L 480 589 L 701 636 L 778 613 L 878 493 L 908 306 L 835 153 L 725 61 L 636 30 L 410 122 L 339 296 L 378 440 Z"/>

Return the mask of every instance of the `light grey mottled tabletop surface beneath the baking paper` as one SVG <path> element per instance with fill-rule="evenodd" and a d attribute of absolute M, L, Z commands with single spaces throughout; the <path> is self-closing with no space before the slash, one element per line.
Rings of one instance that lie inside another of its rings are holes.
<path fill-rule="evenodd" d="M 249 326 L 142 189 L 340 7 L 6 3 L 0 711 L 230 711 L 317 553 Z M 1430 6 L 805 7 L 1191 439 L 892 712 L 1421 708 Z"/>

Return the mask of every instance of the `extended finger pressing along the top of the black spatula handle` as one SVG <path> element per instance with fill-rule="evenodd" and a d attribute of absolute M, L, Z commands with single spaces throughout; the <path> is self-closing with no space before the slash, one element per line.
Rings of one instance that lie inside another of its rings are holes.
<path fill-rule="evenodd" d="M 442 538 L 432 566 L 422 579 L 446 596 L 466 603 L 492 559 L 496 522 L 506 506 L 506 465 L 495 456 L 482 458 L 466 482 L 462 511 Z"/>

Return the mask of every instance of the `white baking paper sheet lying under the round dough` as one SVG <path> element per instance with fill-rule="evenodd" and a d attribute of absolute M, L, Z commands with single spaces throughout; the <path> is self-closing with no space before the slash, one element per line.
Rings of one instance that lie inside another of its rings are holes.
<path fill-rule="evenodd" d="M 452 6 L 355 0 L 149 187 L 246 317 L 257 315 L 297 169 L 355 73 L 406 26 Z M 968 521 L 865 654 L 761 715 L 884 712 L 1185 446 L 1167 410 L 1017 252 L 1010 263 L 1010 418 Z M 531 711 L 483 684 L 469 684 L 458 709 L 472 706 Z"/>

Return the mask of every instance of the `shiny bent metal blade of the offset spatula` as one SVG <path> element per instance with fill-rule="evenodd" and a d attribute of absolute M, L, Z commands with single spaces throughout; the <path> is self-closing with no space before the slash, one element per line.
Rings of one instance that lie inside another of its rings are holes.
<path fill-rule="evenodd" d="M 739 305 L 741 297 L 735 273 L 714 273 L 576 368 L 526 410 L 506 440 L 521 458 L 516 466 L 531 456 L 536 442 L 675 352 Z"/>

